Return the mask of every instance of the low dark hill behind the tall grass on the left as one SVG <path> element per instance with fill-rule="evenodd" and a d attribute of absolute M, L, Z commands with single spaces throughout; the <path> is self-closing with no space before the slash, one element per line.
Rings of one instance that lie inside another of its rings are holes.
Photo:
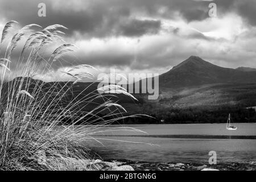
<path fill-rule="evenodd" d="M 31 77 L 16 77 L 9 82 L 5 82 L 1 92 L 2 101 L 5 102 L 10 97 L 8 93 L 13 93 L 13 90 L 17 94 L 20 85 L 22 85 L 20 90 L 26 90 L 36 98 L 35 100 L 43 99 L 46 103 L 44 105 L 54 102 L 62 107 L 67 107 L 71 105 L 71 102 L 76 103 L 77 106 L 73 107 L 72 110 L 90 111 L 108 100 L 113 102 L 138 102 L 125 94 L 118 94 L 118 96 L 102 94 L 102 97 L 99 97 L 98 82 L 76 82 L 76 84 L 71 81 L 44 82 Z M 54 104 L 51 105 L 55 107 Z"/>

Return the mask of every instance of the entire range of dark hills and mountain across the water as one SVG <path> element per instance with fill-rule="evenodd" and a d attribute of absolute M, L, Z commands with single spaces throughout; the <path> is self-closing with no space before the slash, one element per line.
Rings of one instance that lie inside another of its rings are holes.
<path fill-rule="evenodd" d="M 44 96 L 49 101 L 61 100 L 63 107 L 71 101 L 78 103 L 76 108 L 91 110 L 106 100 L 118 102 L 130 114 L 147 114 L 154 118 L 133 118 L 125 123 L 159 123 L 163 118 L 166 123 L 225 122 L 226 116 L 232 113 L 236 122 L 255 122 L 255 110 L 246 109 L 256 105 L 256 72 L 222 68 L 211 64 L 200 57 L 191 56 L 176 65 L 170 71 L 159 76 L 159 97 L 148 100 L 147 94 L 134 94 L 139 101 L 132 100 L 123 94 L 97 97 L 98 82 L 43 82 L 26 78 L 30 82 L 30 93 L 38 89 L 44 93 L 64 93 Z M 15 78 L 5 83 L 3 89 L 22 78 Z M 140 83 L 142 80 L 140 81 Z M 10 89 L 10 88 L 9 88 Z M 27 89 L 26 89 L 27 90 Z M 49 92 L 51 90 L 51 92 Z M 129 90 L 131 93 L 131 90 Z M 2 93 L 6 93 L 2 92 Z M 116 97 L 117 96 L 117 97 Z M 93 102 L 88 102 L 88 98 Z M 47 104 L 46 104 L 47 105 Z M 100 112 L 101 114 L 108 114 Z"/>

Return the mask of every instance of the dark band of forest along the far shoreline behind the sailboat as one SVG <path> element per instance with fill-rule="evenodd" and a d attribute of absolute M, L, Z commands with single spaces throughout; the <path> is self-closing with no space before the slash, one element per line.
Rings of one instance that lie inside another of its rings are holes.
<path fill-rule="evenodd" d="M 241 105 L 168 107 L 147 109 L 143 114 L 150 117 L 127 118 L 125 124 L 175 124 L 175 123 L 225 123 L 229 113 L 233 123 L 256 122 L 255 109 Z M 135 113 L 130 113 L 135 114 Z"/>

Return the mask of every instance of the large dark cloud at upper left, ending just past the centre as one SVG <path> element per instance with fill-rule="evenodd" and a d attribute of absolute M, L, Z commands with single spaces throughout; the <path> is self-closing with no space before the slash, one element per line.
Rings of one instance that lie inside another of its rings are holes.
<path fill-rule="evenodd" d="M 37 23 L 43 27 L 50 24 L 62 24 L 69 28 L 68 35 L 80 32 L 87 38 L 106 36 L 142 36 L 144 34 L 156 34 L 160 29 L 160 20 L 139 20 L 130 18 L 132 7 L 128 8 L 114 3 L 96 1 L 86 5 L 86 1 L 80 1 L 80 7 L 59 3 L 55 7 L 52 1 L 0 1 L 0 15 L 7 20 L 17 20 L 22 26 Z M 46 17 L 38 16 L 38 4 L 46 4 Z M 22 8 L 20 8 L 22 7 Z M 124 23 L 125 22 L 125 23 Z"/>

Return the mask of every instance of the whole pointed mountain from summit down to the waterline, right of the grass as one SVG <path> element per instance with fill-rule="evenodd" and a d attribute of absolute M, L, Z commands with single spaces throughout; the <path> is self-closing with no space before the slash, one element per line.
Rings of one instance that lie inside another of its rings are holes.
<path fill-rule="evenodd" d="M 255 110 L 246 107 L 256 105 L 256 72 L 222 68 L 191 56 L 159 76 L 158 100 L 148 100 L 147 94 L 136 97 L 143 98 L 142 104 L 125 103 L 127 111 L 156 121 L 130 123 L 226 122 L 229 113 L 236 122 L 255 122 Z"/>

